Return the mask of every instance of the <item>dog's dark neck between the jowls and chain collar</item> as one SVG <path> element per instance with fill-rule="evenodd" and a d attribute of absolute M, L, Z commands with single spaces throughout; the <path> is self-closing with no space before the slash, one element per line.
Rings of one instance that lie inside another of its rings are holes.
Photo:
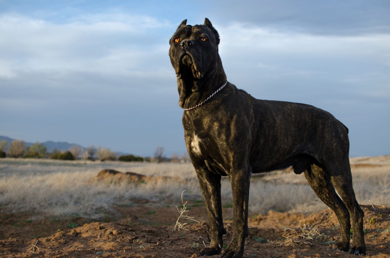
<path fill-rule="evenodd" d="M 184 76 L 184 78 L 186 78 Z M 179 90 L 179 105 L 181 108 L 191 108 L 204 101 L 226 82 L 226 74 L 223 70 L 221 58 L 218 55 L 215 69 L 209 70 L 203 78 L 186 79 L 177 78 Z"/>

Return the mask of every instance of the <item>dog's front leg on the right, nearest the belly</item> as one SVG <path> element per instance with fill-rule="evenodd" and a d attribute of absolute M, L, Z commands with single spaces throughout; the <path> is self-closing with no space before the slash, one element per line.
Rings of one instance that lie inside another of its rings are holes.
<path fill-rule="evenodd" d="M 230 180 L 233 195 L 233 236 L 221 258 L 241 258 L 245 237 L 248 236 L 248 199 L 251 168 L 232 171 Z"/>

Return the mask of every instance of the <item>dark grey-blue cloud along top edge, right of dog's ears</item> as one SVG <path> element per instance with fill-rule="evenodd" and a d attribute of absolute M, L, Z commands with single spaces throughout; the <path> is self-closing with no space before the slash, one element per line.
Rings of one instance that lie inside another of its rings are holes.
<path fill-rule="evenodd" d="M 238 21 L 282 32 L 313 35 L 390 33 L 386 0 L 234 0 L 212 2 L 211 21 Z M 213 16 L 213 17 L 212 17 Z"/>

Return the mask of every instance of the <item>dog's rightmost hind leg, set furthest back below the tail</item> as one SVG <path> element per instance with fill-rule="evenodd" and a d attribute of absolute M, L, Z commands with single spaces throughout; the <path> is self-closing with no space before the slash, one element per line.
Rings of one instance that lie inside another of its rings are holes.
<path fill-rule="evenodd" d="M 352 246 L 349 250 L 350 254 L 365 254 L 366 246 L 364 243 L 364 234 L 363 234 L 363 216 L 364 212 L 360 208 L 358 202 L 355 198 L 355 192 L 352 187 L 352 175 L 351 168 L 349 165 L 349 160 L 344 165 L 344 173 L 332 173 L 331 181 L 335 187 L 337 193 L 340 194 L 341 199 L 344 201 L 349 214 L 351 214 L 352 222 Z M 340 168 L 343 166 L 334 166 L 334 171 L 340 171 Z"/>

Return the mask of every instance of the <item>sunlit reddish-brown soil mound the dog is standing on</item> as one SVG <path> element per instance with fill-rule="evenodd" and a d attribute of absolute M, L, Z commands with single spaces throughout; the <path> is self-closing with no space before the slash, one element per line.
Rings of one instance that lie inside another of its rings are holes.
<path fill-rule="evenodd" d="M 362 208 L 365 212 L 366 257 L 390 258 L 390 207 L 379 205 Z M 195 253 L 198 249 L 209 244 L 208 224 L 203 221 L 186 224 L 186 227 L 188 230 L 172 231 L 173 226 L 94 222 L 57 232 L 50 237 L 1 240 L 0 256 L 197 257 Z M 223 241 L 229 244 L 232 224 L 225 223 L 225 228 L 227 234 Z M 250 227 L 244 257 L 355 257 L 333 249 L 333 243 L 339 236 L 337 219 L 327 209 L 305 217 L 300 226 L 284 229 Z"/>

